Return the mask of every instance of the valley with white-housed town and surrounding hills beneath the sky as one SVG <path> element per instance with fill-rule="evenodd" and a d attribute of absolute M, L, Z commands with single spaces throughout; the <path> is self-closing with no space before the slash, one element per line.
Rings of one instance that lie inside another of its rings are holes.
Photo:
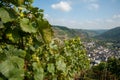
<path fill-rule="evenodd" d="M 91 65 L 107 61 L 109 57 L 120 58 L 120 27 L 110 30 L 70 29 L 53 26 L 55 38 L 61 40 L 80 37 Z"/>

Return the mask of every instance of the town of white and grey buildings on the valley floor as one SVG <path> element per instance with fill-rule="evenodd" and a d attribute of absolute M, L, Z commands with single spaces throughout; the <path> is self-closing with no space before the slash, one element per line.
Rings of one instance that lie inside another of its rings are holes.
<path fill-rule="evenodd" d="M 109 49 L 95 42 L 84 42 L 91 65 L 107 61 L 109 57 L 120 58 L 120 49 Z M 106 43 L 107 44 L 107 43 Z"/>

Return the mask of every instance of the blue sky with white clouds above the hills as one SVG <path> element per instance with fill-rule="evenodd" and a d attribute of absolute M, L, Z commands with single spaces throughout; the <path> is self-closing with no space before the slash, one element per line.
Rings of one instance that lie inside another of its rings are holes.
<path fill-rule="evenodd" d="M 34 0 L 52 25 L 74 29 L 120 26 L 120 0 Z"/>

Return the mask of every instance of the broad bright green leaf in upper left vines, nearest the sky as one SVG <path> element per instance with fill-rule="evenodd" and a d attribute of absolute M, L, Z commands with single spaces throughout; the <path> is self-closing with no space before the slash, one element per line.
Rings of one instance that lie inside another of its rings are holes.
<path fill-rule="evenodd" d="M 20 27 L 23 31 L 28 33 L 36 33 L 37 27 L 34 22 L 30 22 L 29 19 L 23 18 L 20 20 Z"/>

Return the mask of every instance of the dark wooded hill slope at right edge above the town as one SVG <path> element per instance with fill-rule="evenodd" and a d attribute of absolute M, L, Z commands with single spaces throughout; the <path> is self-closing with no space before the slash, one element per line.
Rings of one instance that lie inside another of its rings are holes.
<path fill-rule="evenodd" d="M 120 27 L 110 29 L 99 36 L 96 36 L 97 39 L 103 40 L 118 40 L 120 41 Z"/>

